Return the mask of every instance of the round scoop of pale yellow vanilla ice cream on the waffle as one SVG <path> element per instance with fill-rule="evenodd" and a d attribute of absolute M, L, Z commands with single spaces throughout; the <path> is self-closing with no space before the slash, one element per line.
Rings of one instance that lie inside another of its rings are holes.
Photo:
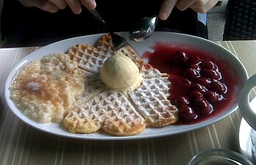
<path fill-rule="evenodd" d="M 122 54 L 113 54 L 105 60 L 100 77 L 110 89 L 129 89 L 141 79 L 132 59 Z"/>

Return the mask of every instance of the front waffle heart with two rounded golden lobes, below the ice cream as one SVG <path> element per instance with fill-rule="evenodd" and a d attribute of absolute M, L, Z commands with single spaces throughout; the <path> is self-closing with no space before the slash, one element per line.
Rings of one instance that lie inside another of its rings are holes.
<path fill-rule="evenodd" d="M 114 136 L 131 136 L 146 127 L 143 117 L 121 92 L 102 92 L 88 102 L 79 100 L 63 123 L 71 133 L 92 133 L 103 128 Z"/>

